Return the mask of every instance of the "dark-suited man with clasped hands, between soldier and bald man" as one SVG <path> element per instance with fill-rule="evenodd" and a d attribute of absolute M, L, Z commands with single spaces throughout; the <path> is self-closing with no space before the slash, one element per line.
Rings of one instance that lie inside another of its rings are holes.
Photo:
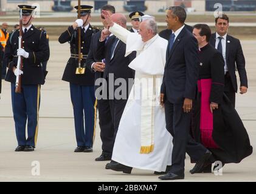
<path fill-rule="evenodd" d="M 115 13 L 115 8 L 112 5 L 104 5 L 101 10 L 106 10 L 110 15 Z M 105 18 L 101 16 L 102 24 L 104 28 L 107 28 Z M 95 82 L 99 79 L 103 79 L 103 71 L 105 69 L 105 59 L 97 58 L 97 44 L 100 39 L 102 31 L 95 33 L 92 36 L 92 41 L 86 61 L 87 69 L 94 72 Z M 109 37 L 108 37 L 109 38 Z M 99 85 L 95 85 L 95 91 L 99 88 Z M 97 96 L 96 96 L 97 98 Z M 102 139 L 102 154 L 95 158 L 95 161 L 108 161 L 111 160 L 113 149 L 113 132 L 114 125 L 112 123 L 111 110 L 108 99 L 98 99 L 99 110 L 99 125 L 100 125 L 100 138 Z"/>

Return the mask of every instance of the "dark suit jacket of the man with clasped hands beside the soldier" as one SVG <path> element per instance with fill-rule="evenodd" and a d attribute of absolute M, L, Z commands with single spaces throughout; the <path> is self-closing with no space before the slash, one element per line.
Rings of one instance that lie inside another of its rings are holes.
<path fill-rule="evenodd" d="M 103 72 L 95 72 L 92 69 L 92 64 L 94 62 L 102 62 L 101 59 L 97 59 L 97 45 L 98 45 L 98 41 L 100 39 L 100 35 L 101 35 L 102 31 L 99 31 L 97 33 L 95 33 L 92 36 L 92 41 L 91 41 L 91 45 L 90 45 L 90 49 L 89 49 L 89 53 L 87 56 L 87 60 L 86 60 L 86 68 L 89 69 L 92 73 L 94 73 L 95 75 L 95 80 L 94 82 L 98 79 L 98 78 L 103 78 Z M 98 86 L 99 87 L 99 86 Z M 95 89 L 97 89 L 97 87 L 95 86 Z"/>

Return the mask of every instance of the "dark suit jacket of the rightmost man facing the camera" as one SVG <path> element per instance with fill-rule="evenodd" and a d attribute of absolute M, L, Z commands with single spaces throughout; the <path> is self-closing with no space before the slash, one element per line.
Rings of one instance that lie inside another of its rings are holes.
<path fill-rule="evenodd" d="M 213 33 L 210 38 L 210 44 L 215 47 L 216 42 L 216 33 Z M 235 92 L 237 92 L 237 76 L 235 75 L 235 69 L 237 65 L 238 74 L 240 77 L 240 86 L 246 86 L 247 84 L 247 75 L 245 69 L 245 59 L 243 55 L 243 50 L 240 44 L 239 39 L 234 38 L 233 36 L 227 35 L 226 41 L 226 61 L 227 68 L 229 69 L 229 75 L 232 81 Z"/>

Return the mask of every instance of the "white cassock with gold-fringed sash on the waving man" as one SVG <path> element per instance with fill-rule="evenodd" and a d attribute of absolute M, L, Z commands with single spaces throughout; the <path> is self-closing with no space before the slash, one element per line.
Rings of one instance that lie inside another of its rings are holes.
<path fill-rule="evenodd" d="M 125 56 L 137 52 L 129 64 L 136 71 L 134 85 L 120 120 L 112 160 L 137 169 L 164 172 L 171 165 L 172 136 L 165 129 L 159 94 L 168 41 L 156 35 L 143 42 L 138 33 L 117 24 L 109 31 L 126 43 Z"/>

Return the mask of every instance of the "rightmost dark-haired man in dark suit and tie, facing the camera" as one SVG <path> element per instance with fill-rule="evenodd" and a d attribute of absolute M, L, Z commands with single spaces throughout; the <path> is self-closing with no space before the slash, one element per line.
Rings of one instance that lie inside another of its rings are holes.
<path fill-rule="evenodd" d="M 239 39 L 227 35 L 229 28 L 229 17 L 227 15 L 223 14 L 216 18 L 215 27 L 216 32 L 212 34 L 210 44 L 223 55 L 225 61 L 224 93 L 235 107 L 235 93 L 238 89 L 236 69 L 240 77 L 240 93 L 246 93 L 248 88 L 243 50 Z"/>

